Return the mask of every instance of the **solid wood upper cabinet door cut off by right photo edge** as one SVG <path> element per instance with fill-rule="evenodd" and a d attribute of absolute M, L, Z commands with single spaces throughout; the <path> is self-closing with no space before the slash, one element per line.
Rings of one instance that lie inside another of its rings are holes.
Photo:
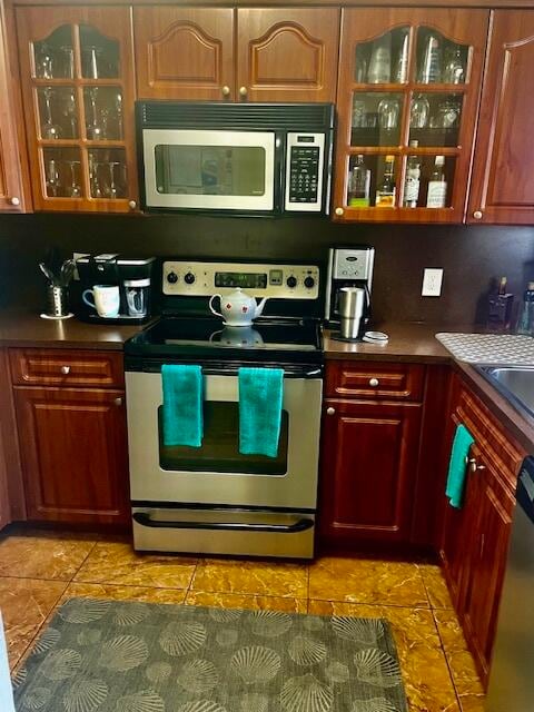
<path fill-rule="evenodd" d="M 468 221 L 534 224 L 534 10 L 493 13 Z"/>

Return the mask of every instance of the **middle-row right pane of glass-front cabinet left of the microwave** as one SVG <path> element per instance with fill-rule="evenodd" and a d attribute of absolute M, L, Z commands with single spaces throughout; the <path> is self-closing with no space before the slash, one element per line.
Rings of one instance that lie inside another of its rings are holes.
<path fill-rule="evenodd" d="M 86 131 L 89 140 L 122 139 L 122 91 L 120 87 L 83 89 Z"/>

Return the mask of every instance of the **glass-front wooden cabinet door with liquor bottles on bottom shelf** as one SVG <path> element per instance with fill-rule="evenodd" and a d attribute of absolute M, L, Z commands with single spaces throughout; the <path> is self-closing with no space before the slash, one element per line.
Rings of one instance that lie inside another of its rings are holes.
<path fill-rule="evenodd" d="M 334 215 L 462 222 L 488 13 L 343 14 Z"/>

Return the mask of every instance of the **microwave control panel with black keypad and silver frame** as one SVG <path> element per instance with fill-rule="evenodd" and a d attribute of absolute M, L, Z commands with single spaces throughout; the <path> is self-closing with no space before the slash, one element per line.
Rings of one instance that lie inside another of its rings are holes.
<path fill-rule="evenodd" d="M 323 205 L 325 135 L 287 134 L 285 210 L 319 212 Z"/>

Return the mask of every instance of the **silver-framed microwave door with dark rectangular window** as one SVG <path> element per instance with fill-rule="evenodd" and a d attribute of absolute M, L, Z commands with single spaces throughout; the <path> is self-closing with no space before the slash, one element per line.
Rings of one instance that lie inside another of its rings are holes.
<path fill-rule="evenodd" d="M 148 207 L 273 210 L 275 132 L 145 129 Z"/>

